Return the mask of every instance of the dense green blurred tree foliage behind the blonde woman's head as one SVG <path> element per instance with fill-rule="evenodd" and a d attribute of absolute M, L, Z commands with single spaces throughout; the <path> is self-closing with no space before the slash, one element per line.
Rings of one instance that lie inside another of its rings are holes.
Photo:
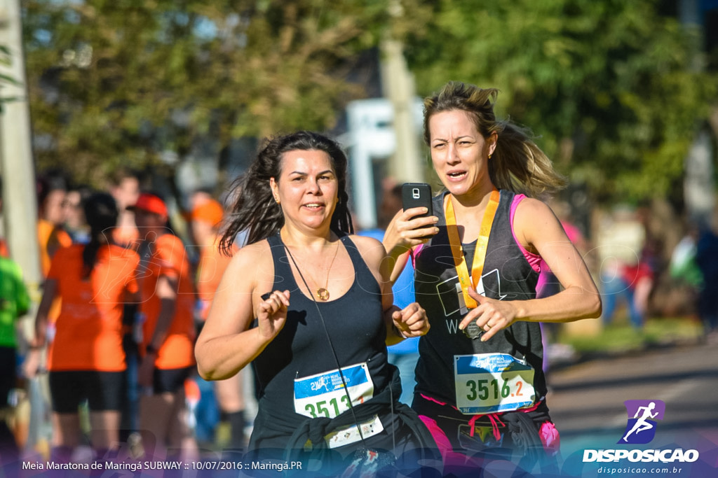
<path fill-rule="evenodd" d="M 598 199 L 663 196 L 716 107 L 699 32 L 655 0 L 442 0 L 406 39 L 422 95 L 447 80 L 501 90 L 498 109 L 539 136 Z"/>

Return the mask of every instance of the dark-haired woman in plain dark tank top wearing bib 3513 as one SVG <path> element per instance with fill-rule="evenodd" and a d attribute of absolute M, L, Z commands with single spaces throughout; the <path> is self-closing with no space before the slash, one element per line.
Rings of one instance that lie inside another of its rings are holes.
<path fill-rule="evenodd" d="M 416 303 L 392 305 L 381 243 L 348 236 L 346 168 L 338 145 L 316 133 L 275 138 L 260 151 L 223 236 L 231 246 L 248 231 L 249 244 L 218 287 L 197 364 L 212 380 L 256 368 L 246 462 L 318 464 L 325 476 L 411 474 L 435 446 L 398 401 L 386 345 L 423 335 L 428 322 Z"/>

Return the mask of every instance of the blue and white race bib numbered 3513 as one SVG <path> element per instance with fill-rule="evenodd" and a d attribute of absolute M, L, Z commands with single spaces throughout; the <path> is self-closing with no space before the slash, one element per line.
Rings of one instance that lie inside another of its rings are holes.
<path fill-rule="evenodd" d="M 294 380 L 294 411 L 311 418 L 333 419 L 349 409 L 349 398 L 357 405 L 374 396 L 374 383 L 366 363 L 344 367 L 342 375 L 346 390 L 338 370 Z"/>

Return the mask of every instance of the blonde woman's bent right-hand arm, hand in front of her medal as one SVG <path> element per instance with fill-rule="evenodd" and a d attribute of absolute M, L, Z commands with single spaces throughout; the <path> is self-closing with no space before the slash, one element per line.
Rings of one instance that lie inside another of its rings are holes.
<path fill-rule="evenodd" d="M 467 314 L 460 328 L 476 320 L 486 331 L 481 340 L 488 340 L 516 320 L 571 322 L 600 317 L 601 297 L 591 274 L 549 206 L 536 199 L 524 199 L 516 209 L 513 230 L 526 249 L 541 255 L 564 290 L 543 299 L 507 301 L 489 299 L 470 290 L 479 306 Z"/>

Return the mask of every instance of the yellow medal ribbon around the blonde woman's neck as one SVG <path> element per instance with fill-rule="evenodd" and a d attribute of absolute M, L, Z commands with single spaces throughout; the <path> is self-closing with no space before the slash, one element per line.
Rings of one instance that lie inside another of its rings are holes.
<path fill-rule="evenodd" d="M 447 194 L 447 197 L 444 200 L 444 216 L 447 220 L 449 246 L 451 247 L 451 253 L 454 257 L 456 272 L 459 275 L 459 282 L 461 284 L 461 290 L 464 294 L 464 301 L 466 306 L 470 309 L 475 308 L 477 303 L 470 297 L 469 292 L 467 291 L 469 287 L 475 287 L 475 285 L 478 285 L 481 279 L 481 274 L 484 269 L 484 259 L 486 257 L 486 246 L 489 242 L 491 224 L 493 224 L 496 209 L 498 209 L 499 197 L 500 194 L 498 189 L 491 191 L 489 204 L 486 206 L 484 216 L 481 219 L 481 229 L 479 230 L 479 236 L 476 239 L 476 250 L 474 252 L 474 260 L 471 266 L 471 277 L 469 277 L 469 271 L 466 267 L 466 258 L 464 257 L 464 251 L 461 247 L 461 239 L 459 239 L 459 229 L 456 226 L 456 214 L 454 213 L 454 205 L 451 201 L 451 194 Z"/>

